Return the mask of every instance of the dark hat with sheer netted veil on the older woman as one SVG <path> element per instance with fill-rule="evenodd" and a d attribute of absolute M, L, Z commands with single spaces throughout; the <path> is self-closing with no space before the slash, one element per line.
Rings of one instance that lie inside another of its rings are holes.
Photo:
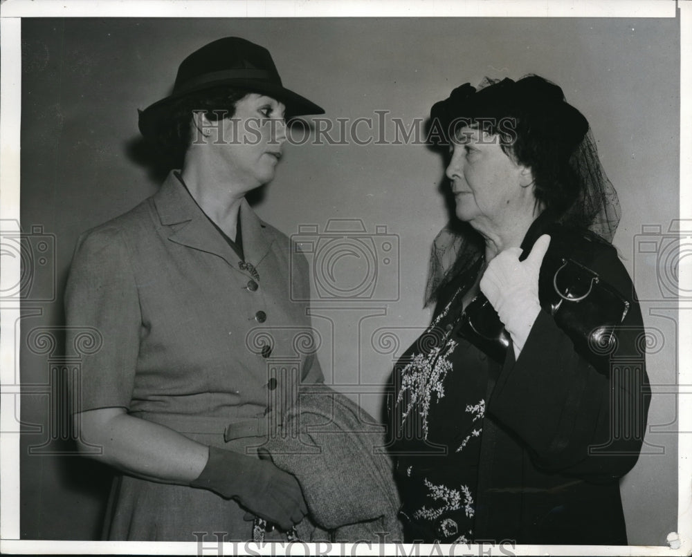
<path fill-rule="evenodd" d="M 516 126 L 503 127 L 509 119 Z M 518 79 L 490 79 L 475 88 L 465 83 L 430 110 L 428 135 L 432 147 L 447 149 L 460 127 L 484 128 L 491 133 L 531 134 L 549 144 L 554 153 L 568 160 L 576 175 L 579 192 L 570 206 L 554 214 L 556 223 L 596 234 L 608 243 L 620 220 L 620 205 L 612 183 L 605 176 L 594 137 L 586 118 L 567 103 L 562 89 L 543 77 L 528 75 Z M 439 290 L 457 274 L 467 270 L 482 256 L 482 243 L 470 227 L 450 223 L 432 246 L 426 305 L 437 299 Z"/>

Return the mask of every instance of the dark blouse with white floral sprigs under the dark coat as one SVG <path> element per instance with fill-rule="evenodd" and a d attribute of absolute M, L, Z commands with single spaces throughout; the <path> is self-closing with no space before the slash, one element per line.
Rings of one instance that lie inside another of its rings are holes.
<path fill-rule="evenodd" d="M 473 540 L 488 358 L 457 325 L 480 263 L 448 289 L 448 301 L 394 367 L 391 452 L 408 541 Z"/>

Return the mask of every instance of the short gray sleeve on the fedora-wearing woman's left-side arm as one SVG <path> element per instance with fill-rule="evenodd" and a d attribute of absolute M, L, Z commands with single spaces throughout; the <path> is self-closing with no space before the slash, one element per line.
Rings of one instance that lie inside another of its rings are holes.
<path fill-rule="evenodd" d="M 141 314 L 127 247 L 116 227 L 82 234 L 65 291 L 66 350 L 85 328 L 98 337 L 82 358 L 81 402 L 73 412 L 130 404 Z"/>

